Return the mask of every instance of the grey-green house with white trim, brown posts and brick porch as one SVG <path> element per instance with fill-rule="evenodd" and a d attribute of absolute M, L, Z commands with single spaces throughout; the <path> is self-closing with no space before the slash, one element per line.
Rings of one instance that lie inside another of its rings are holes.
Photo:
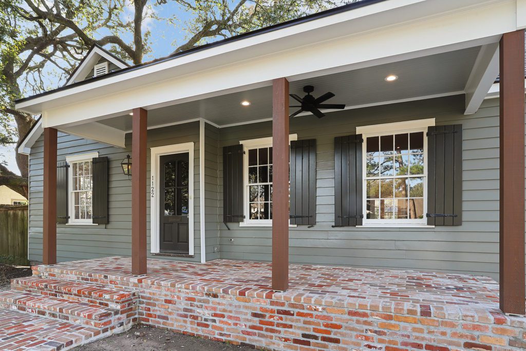
<path fill-rule="evenodd" d="M 525 27 L 523 0 L 363 0 L 135 66 L 94 46 L 16 102 L 42 115 L 18 147 L 35 274 L 134 289 L 143 323 L 257 347 L 383 349 L 382 330 L 432 335 L 425 317 L 447 336 L 389 343 L 525 347 Z M 312 297 L 331 284 L 340 300 Z M 312 311 L 348 327 L 296 330 Z M 274 314 L 290 324 L 258 324 Z M 484 335 L 450 337 L 462 319 Z"/>

